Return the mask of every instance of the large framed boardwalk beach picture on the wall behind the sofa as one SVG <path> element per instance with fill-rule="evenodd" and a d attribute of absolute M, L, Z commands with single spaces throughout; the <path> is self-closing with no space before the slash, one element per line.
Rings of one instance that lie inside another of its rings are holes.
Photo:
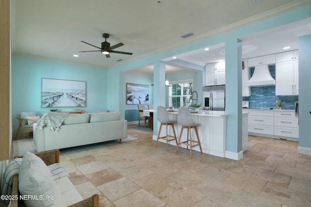
<path fill-rule="evenodd" d="M 42 78 L 41 107 L 86 107 L 86 81 Z"/>

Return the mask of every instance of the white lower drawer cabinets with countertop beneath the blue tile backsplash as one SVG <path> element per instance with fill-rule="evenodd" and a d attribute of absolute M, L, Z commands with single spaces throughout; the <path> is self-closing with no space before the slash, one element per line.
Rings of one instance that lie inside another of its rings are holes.
<path fill-rule="evenodd" d="M 248 116 L 248 134 L 298 141 L 298 117 L 294 111 L 245 110 Z"/>

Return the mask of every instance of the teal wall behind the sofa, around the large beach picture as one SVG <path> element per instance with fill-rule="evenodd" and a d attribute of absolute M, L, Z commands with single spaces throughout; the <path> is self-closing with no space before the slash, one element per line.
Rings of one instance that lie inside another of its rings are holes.
<path fill-rule="evenodd" d="M 62 79 L 86 81 L 86 107 L 41 108 L 41 79 Z M 110 110 L 107 108 L 107 70 L 64 64 L 52 61 L 12 56 L 12 119 L 23 111 L 35 111 L 38 115 L 58 111 L 81 109 L 85 112 Z"/>

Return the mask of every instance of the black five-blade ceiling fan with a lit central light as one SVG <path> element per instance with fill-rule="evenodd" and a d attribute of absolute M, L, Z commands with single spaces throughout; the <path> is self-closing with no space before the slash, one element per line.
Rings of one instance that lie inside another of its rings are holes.
<path fill-rule="evenodd" d="M 116 50 L 113 50 L 115 48 L 119 48 L 121 46 L 123 46 L 124 44 L 123 43 L 118 43 L 114 46 L 111 46 L 110 47 L 110 43 L 107 42 L 107 38 L 109 38 L 109 34 L 107 33 L 103 33 L 103 37 L 105 38 L 105 41 L 102 42 L 102 48 L 99 48 L 95 45 L 92 45 L 92 44 L 89 44 L 85 41 L 81 41 L 87 45 L 90 45 L 90 46 L 93 46 L 95 48 L 99 48 L 100 50 L 91 50 L 91 51 L 79 51 L 79 52 L 98 52 L 98 51 L 101 51 L 102 54 L 106 55 L 106 58 L 110 58 L 110 53 L 119 53 L 119 54 L 125 54 L 125 55 L 132 55 L 133 53 L 132 52 L 121 52 L 121 51 L 116 51 Z"/>

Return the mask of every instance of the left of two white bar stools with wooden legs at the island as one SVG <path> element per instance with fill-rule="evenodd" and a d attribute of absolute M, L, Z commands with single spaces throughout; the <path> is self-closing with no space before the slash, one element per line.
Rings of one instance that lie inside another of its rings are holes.
<path fill-rule="evenodd" d="M 159 139 L 166 140 L 166 150 L 168 150 L 168 142 L 175 140 L 175 142 L 177 144 L 177 138 L 176 138 L 176 133 L 175 133 L 175 129 L 174 129 L 174 122 L 169 119 L 169 116 L 168 116 L 167 111 L 166 111 L 164 106 L 158 106 L 156 111 L 157 111 L 156 118 L 161 123 L 161 125 L 159 128 L 159 132 L 157 134 L 155 146 L 157 146 Z M 163 125 L 166 126 L 166 136 L 160 137 L 160 133 L 161 133 L 161 129 L 162 129 Z M 174 136 L 168 135 L 167 126 L 172 126 Z M 173 137 L 174 139 L 169 140 L 169 137 Z"/>

